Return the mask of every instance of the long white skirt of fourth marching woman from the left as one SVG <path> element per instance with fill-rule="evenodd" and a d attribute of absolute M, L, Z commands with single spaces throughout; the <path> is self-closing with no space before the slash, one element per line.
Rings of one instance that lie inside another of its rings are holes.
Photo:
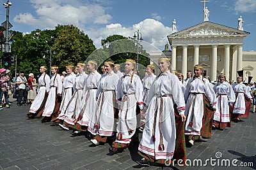
<path fill-rule="evenodd" d="M 75 125 L 74 122 L 76 122 L 76 118 L 78 117 L 81 109 L 81 103 L 82 103 L 82 94 L 83 90 L 76 90 L 71 97 L 70 103 L 66 110 L 64 111 L 65 113 L 65 122 L 67 122 L 70 125 Z M 75 118 L 72 118 L 72 116 L 75 113 Z"/>

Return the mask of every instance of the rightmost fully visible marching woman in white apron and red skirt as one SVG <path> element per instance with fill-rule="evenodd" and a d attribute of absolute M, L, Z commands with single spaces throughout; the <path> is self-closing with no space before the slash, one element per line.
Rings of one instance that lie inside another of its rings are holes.
<path fill-rule="evenodd" d="M 240 118 L 248 118 L 252 96 L 246 85 L 243 84 L 243 76 L 237 76 L 237 82 L 232 85 L 232 88 L 236 94 L 236 101 L 233 104 L 232 121 L 239 122 Z"/>

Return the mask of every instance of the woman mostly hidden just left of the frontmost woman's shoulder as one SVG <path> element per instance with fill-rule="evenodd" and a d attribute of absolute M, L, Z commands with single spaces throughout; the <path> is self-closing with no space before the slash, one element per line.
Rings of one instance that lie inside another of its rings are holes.
<path fill-rule="evenodd" d="M 155 73 L 155 66 L 153 65 L 148 65 L 147 66 L 147 76 L 145 76 L 143 78 L 142 81 L 142 85 L 143 85 L 143 102 L 145 102 L 145 99 L 148 95 L 148 90 L 150 89 L 153 81 L 156 79 L 156 75 L 154 74 Z M 145 117 L 145 114 L 141 113 L 141 127 L 140 127 L 140 131 L 143 131 L 143 127 L 145 125 L 145 120 L 146 120 L 146 117 Z"/>

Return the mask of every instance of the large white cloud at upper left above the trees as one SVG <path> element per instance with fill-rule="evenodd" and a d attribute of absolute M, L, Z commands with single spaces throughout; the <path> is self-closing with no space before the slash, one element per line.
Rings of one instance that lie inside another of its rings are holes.
<path fill-rule="evenodd" d="M 74 24 L 81 27 L 92 23 L 108 24 L 112 18 L 103 6 L 83 1 L 31 0 L 31 3 L 35 8 L 36 17 L 31 13 L 20 13 L 15 16 L 15 22 L 49 28 L 57 24 Z"/>

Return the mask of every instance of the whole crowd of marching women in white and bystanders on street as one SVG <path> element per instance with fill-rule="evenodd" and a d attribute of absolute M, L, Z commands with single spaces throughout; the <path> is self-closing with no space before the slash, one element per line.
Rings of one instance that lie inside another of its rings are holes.
<path fill-rule="evenodd" d="M 86 65 L 77 63 L 76 67 L 68 64 L 61 76 L 58 66 L 52 66 L 50 78 L 47 67 L 41 66 L 37 89 L 35 78 L 29 74 L 28 86 L 33 89 L 29 92 L 36 91 L 29 95 L 26 77 L 20 71 L 17 104 L 22 104 L 22 97 L 27 103 L 26 96 L 32 96 L 29 119 L 42 118 L 43 123 L 72 130 L 74 136 L 86 135 L 92 146 L 111 141 L 112 155 L 131 143 L 140 143 L 141 159 L 136 162 L 142 166 L 150 166 L 150 162 L 170 164 L 174 159 L 184 163 L 186 147 L 201 137 L 211 138 L 212 130 L 223 130 L 232 121 L 248 118 L 252 101 L 255 112 L 256 89 L 244 85 L 243 76 L 237 76 L 236 83 L 230 85 L 225 74 L 220 74 L 213 85 L 204 77 L 204 68 L 196 65 L 184 79 L 172 70 L 166 57 L 158 60 L 161 74 L 156 76 L 155 66 L 148 65 L 142 80 L 132 59 L 125 61 L 125 73 L 111 60 L 104 62 L 102 74 L 97 67 L 95 60 Z"/>

